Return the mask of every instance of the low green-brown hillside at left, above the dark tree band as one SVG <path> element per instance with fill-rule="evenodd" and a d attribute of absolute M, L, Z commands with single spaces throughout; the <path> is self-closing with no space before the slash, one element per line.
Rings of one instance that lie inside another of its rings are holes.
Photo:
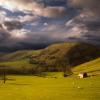
<path fill-rule="evenodd" d="M 41 50 L 22 50 L 0 56 L 0 66 L 8 68 L 32 68 L 35 64 L 30 63 L 30 57 L 37 55 Z M 2 61 L 3 60 L 3 61 Z"/>

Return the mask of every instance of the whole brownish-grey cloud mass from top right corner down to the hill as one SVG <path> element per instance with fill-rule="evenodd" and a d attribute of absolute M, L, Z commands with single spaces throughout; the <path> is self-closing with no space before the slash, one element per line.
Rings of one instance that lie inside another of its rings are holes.
<path fill-rule="evenodd" d="M 100 0 L 68 0 L 79 15 L 67 22 L 72 37 L 94 44 L 100 44 Z M 74 35 L 75 33 L 77 35 Z"/>

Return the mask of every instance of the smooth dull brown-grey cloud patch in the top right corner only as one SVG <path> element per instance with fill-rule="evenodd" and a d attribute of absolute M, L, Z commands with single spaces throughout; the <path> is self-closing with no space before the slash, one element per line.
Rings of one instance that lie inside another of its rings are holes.
<path fill-rule="evenodd" d="M 100 16 L 100 0 L 68 0 L 69 5 L 88 10 L 95 16 Z"/>

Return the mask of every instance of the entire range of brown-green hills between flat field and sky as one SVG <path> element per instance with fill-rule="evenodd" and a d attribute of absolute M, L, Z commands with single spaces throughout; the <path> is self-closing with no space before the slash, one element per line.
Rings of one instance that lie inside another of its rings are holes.
<path fill-rule="evenodd" d="M 79 42 L 51 45 L 42 50 L 23 50 L 0 55 L 0 66 L 10 73 L 70 71 L 70 68 L 100 57 L 100 48 Z"/>

